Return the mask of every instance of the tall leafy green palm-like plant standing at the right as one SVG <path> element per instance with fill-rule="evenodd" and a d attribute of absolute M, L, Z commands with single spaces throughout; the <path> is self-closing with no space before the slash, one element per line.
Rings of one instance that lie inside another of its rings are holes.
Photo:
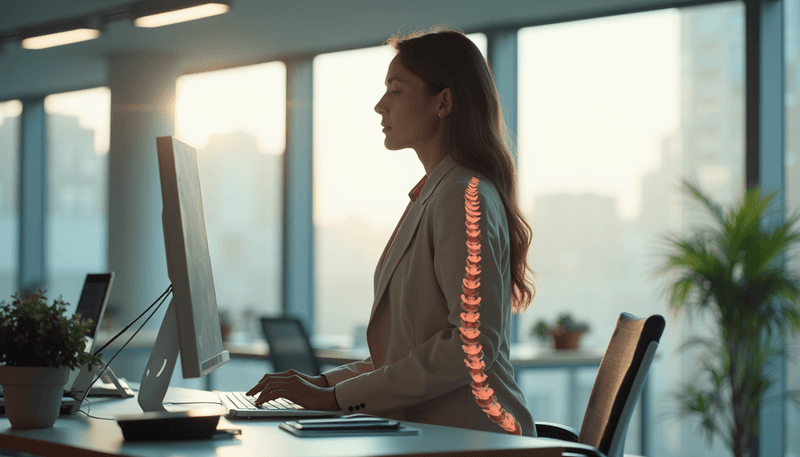
<path fill-rule="evenodd" d="M 660 271 L 669 304 L 713 317 L 710 337 L 685 347 L 704 353 L 699 376 L 677 394 L 681 412 L 699 416 L 709 441 L 718 436 L 737 457 L 750 454 L 759 405 L 770 380 L 763 367 L 779 354 L 775 338 L 800 330 L 800 277 L 786 257 L 800 241 L 798 217 L 776 217 L 775 195 L 749 190 L 728 212 L 688 182 L 684 187 L 711 224 L 668 238 Z"/>

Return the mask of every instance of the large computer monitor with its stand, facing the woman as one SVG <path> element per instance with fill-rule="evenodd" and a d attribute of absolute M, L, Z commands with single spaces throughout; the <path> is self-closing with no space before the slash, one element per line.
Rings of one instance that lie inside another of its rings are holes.
<path fill-rule="evenodd" d="M 197 154 L 169 136 L 157 138 L 156 145 L 172 300 L 142 375 L 139 405 L 145 412 L 166 410 L 178 353 L 184 378 L 205 376 L 230 360 L 222 346 Z"/>

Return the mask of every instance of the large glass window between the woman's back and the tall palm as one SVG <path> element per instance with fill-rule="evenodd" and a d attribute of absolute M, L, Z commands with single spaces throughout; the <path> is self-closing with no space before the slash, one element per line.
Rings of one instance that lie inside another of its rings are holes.
<path fill-rule="evenodd" d="M 698 365 L 678 348 L 704 321 L 676 318 L 655 273 L 664 237 L 701 216 L 678 191 L 682 177 L 725 204 L 743 191 L 743 14 L 741 4 L 722 4 L 519 32 L 520 197 L 538 275 L 520 334 L 534 343 L 538 319 L 569 311 L 592 326 L 582 347 L 604 351 L 620 312 L 667 318 L 648 377 L 654 455 L 728 454 L 706 447 L 696 421 L 676 420 L 671 392 Z M 586 371 L 581 406 L 596 374 Z M 569 423 L 556 375 L 520 379 L 534 418 Z M 632 453 L 638 415 L 637 407 Z"/>

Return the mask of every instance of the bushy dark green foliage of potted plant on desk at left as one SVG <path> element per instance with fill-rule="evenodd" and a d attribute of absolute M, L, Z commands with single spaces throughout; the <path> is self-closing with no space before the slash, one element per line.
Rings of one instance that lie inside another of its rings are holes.
<path fill-rule="evenodd" d="M 72 369 L 100 363 L 100 354 L 85 353 L 91 323 L 78 315 L 66 317 L 68 303 L 58 298 L 48 305 L 44 294 L 14 295 L 11 304 L 0 301 L 0 364 Z"/>

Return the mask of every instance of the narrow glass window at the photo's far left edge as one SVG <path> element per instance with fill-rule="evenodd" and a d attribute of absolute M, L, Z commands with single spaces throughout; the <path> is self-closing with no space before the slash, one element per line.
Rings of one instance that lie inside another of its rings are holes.
<path fill-rule="evenodd" d="M 17 292 L 19 253 L 19 116 L 18 100 L 0 103 L 0 300 Z"/>

